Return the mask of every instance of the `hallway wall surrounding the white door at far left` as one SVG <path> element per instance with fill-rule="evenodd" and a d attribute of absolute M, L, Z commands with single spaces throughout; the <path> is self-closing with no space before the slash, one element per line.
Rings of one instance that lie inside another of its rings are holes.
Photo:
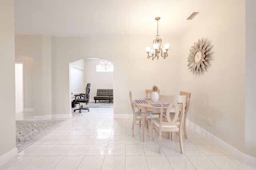
<path fill-rule="evenodd" d="M 23 63 L 24 110 L 34 109 L 34 60 L 30 57 L 16 56 L 15 62 Z"/>

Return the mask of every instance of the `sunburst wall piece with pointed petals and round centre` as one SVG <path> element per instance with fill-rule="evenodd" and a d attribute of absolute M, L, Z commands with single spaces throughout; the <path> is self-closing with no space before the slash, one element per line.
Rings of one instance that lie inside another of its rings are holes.
<path fill-rule="evenodd" d="M 205 70 L 206 66 L 209 65 L 207 60 L 210 59 L 208 56 L 212 53 L 209 51 L 211 47 L 210 41 L 204 38 L 198 39 L 197 43 L 194 42 L 194 46 L 191 47 L 188 55 L 188 69 L 190 69 L 190 72 L 198 74 Z"/>

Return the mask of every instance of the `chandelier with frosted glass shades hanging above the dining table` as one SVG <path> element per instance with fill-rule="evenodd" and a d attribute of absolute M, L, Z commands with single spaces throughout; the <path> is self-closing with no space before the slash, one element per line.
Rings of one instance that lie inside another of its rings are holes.
<path fill-rule="evenodd" d="M 164 48 L 160 48 L 162 44 L 162 39 L 160 39 L 160 35 L 158 35 L 158 20 L 160 20 L 160 17 L 156 17 L 155 20 L 157 20 L 156 39 L 154 39 L 153 41 L 153 49 L 151 49 L 150 47 L 146 47 L 146 52 L 148 53 L 148 59 L 150 59 L 150 57 L 152 57 L 152 60 L 154 60 L 154 58 L 156 57 L 158 59 L 159 54 L 161 54 L 161 56 L 165 59 L 168 56 L 167 51 L 170 47 L 170 44 L 164 44 Z"/>

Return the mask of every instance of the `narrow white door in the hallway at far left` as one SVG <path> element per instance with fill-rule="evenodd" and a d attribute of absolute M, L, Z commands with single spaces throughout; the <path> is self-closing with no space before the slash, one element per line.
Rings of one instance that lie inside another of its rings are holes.
<path fill-rule="evenodd" d="M 23 109 L 23 63 L 15 63 L 16 109 Z"/>

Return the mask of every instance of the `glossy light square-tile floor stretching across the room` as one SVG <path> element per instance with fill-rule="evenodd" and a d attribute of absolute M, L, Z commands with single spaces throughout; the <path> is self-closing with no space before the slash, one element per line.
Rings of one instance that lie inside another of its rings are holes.
<path fill-rule="evenodd" d="M 33 120 L 32 113 L 17 112 L 18 120 Z M 228 154 L 204 136 L 188 129 L 183 139 L 164 134 L 161 153 L 154 141 L 136 127 L 132 119 L 113 119 L 113 108 L 90 108 L 74 113 L 71 119 L 18 153 L 0 170 L 256 170 Z"/>

